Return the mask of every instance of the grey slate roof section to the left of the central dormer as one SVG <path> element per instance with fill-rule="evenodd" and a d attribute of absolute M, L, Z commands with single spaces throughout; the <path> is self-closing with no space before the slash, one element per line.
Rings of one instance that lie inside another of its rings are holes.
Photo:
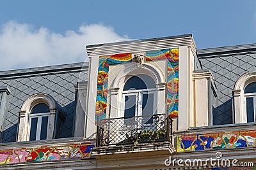
<path fill-rule="evenodd" d="M 88 63 L 63 64 L 0 72 L 0 87 L 10 88 L 7 113 L 1 130 L 2 142 L 14 142 L 17 137 L 19 111 L 26 99 L 36 93 L 51 95 L 67 113 L 60 138 L 73 136 L 74 113 L 76 108 L 74 85 L 87 81 Z"/>

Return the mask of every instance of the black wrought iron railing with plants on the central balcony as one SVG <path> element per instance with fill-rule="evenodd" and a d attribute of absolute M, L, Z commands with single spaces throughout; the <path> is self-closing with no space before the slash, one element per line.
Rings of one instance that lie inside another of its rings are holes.
<path fill-rule="evenodd" d="M 172 118 L 165 114 L 107 118 L 98 121 L 97 146 L 170 141 Z"/>

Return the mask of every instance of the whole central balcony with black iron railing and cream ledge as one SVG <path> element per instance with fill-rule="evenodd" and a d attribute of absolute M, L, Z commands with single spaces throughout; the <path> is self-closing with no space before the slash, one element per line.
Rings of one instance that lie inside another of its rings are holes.
<path fill-rule="evenodd" d="M 96 158 L 109 154 L 113 157 L 119 155 L 113 153 L 170 153 L 170 148 L 173 148 L 172 118 L 157 114 L 100 120 L 96 146 L 92 150 Z"/>

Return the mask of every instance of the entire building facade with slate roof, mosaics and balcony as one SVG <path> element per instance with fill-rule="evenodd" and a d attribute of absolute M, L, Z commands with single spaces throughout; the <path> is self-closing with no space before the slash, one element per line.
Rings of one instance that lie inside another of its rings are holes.
<path fill-rule="evenodd" d="M 0 169 L 255 169 L 256 45 L 191 34 L 0 72 Z"/>

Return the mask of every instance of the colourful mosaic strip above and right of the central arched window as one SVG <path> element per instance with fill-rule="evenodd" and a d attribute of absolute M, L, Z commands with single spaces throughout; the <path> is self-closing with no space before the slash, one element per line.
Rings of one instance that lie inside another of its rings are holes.
<path fill-rule="evenodd" d="M 168 59 L 167 106 L 170 117 L 178 117 L 179 104 L 179 48 L 146 52 L 146 60 Z"/>

